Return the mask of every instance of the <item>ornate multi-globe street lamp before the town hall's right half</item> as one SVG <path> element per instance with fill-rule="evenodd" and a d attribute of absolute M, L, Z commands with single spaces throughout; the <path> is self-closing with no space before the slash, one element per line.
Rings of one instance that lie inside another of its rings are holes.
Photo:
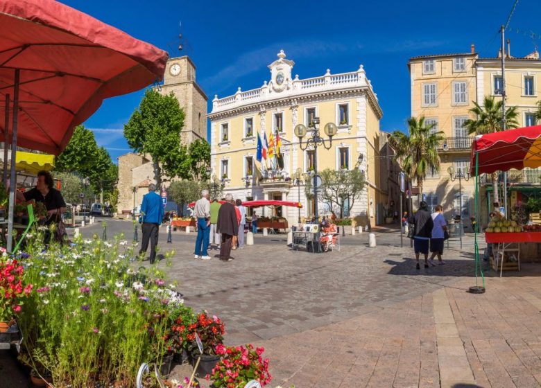
<path fill-rule="evenodd" d="M 320 136 L 319 131 L 319 117 L 314 117 L 314 120 L 310 123 L 309 127 L 307 128 L 305 125 L 298 124 L 295 126 L 295 136 L 299 138 L 299 147 L 302 151 L 307 150 L 307 148 L 312 147 L 314 148 L 314 177 L 313 179 L 313 186 L 314 186 L 314 217 L 319 222 L 319 213 L 318 213 L 318 186 L 316 183 L 318 182 L 318 146 L 323 145 L 326 150 L 330 150 L 332 147 L 332 136 L 338 132 L 338 128 L 336 127 L 336 124 L 334 123 L 327 123 L 325 124 L 325 127 L 323 127 L 323 131 L 327 136 L 329 136 L 329 141 L 327 145 L 326 139 L 323 139 L 323 137 Z M 302 145 L 302 138 L 307 135 L 307 132 L 310 131 L 311 135 L 306 139 L 304 142 L 304 146 Z M 320 178 L 319 178 L 320 180 Z"/>

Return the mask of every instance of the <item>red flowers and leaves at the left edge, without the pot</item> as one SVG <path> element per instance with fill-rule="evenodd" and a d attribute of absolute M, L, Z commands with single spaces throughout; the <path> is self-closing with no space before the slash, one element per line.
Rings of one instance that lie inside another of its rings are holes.
<path fill-rule="evenodd" d="M 11 321 L 22 310 L 22 298 L 32 291 L 23 285 L 22 265 L 16 260 L 0 261 L 0 321 Z"/>

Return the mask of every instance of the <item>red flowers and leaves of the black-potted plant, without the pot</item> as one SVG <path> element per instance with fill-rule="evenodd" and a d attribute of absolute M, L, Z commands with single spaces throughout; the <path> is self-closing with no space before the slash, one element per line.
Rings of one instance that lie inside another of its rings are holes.
<path fill-rule="evenodd" d="M 197 333 L 203 343 L 203 354 L 212 355 L 216 354 L 214 351 L 216 345 L 223 343 L 225 329 L 223 328 L 223 322 L 216 315 L 211 318 L 206 312 L 201 312 L 197 315 L 195 323 L 187 326 L 185 333 L 189 351 L 192 353 L 198 351 L 196 344 Z"/>

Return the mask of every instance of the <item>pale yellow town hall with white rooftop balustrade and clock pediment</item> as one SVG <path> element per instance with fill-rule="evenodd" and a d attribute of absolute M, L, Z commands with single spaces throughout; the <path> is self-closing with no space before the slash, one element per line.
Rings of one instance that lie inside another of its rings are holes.
<path fill-rule="evenodd" d="M 326 123 L 338 125 L 330 149 L 321 145 L 317 148 L 318 171 L 359 168 L 357 160 L 359 154 L 363 154 L 360 168 L 366 171 L 369 184 L 350 211 L 361 224 L 368 222 L 370 213 L 371 224 L 376 224 L 386 204 L 386 192 L 381 191 L 379 185 L 379 165 L 374 162 L 379 155 L 381 109 L 362 67 L 352 73 L 331 75 L 327 71 L 323 77 L 300 80 L 298 76 L 291 77 L 293 62 L 284 58 L 285 55 L 279 54 L 279 59 L 271 64 L 273 78 L 260 89 L 241 92 L 239 88 L 234 96 L 214 98 L 209 114 L 212 175 L 223 179 L 225 192 L 232 193 L 235 198 L 299 201 L 303 205 L 302 217 L 309 217 L 313 214 L 313 204 L 307 200 L 304 187 L 299 190 L 293 185 L 293 177 L 298 168 L 302 173 L 311 172 L 313 151 L 311 148 L 300 149 L 293 129 L 297 124 L 308 127 L 309 117 L 316 116 L 327 146 L 329 141 L 323 127 Z M 281 85 L 275 78 L 279 74 L 282 75 Z M 257 134 L 261 141 L 266 135 L 270 142 L 272 133 L 276 142 L 277 132 L 282 142 L 283 166 L 270 160 L 256 161 Z M 303 147 L 305 141 L 303 139 Z M 253 168 L 250 168 L 250 158 Z M 320 215 L 330 214 L 325 204 L 319 204 L 318 210 Z M 290 208 L 283 215 L 290 224 L 296 223 L 298 209 Z"/>

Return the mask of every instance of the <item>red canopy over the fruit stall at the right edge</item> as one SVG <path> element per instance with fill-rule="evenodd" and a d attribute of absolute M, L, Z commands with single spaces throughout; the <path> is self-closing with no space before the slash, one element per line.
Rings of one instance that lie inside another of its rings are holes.
<path fill-rule="evenodd" d="M 476 158 L 479 162 L 478 174 L 540 167 L 541 125 L 476 136 L 472 143 L 472 175 L 475 174 Z"/>

